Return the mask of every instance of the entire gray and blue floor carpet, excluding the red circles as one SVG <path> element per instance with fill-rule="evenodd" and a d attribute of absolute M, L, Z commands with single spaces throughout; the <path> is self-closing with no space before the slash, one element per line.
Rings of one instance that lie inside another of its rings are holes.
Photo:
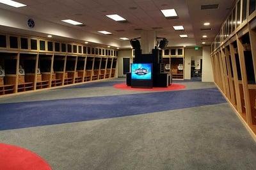
<path fill-rule="evenodd" d="M 256 166 L 255 142 L 214 84 L 154 93 L 109 85 L 120 81 L 2 98 L 0 143 L 27 148 L 53 169 Z"/>

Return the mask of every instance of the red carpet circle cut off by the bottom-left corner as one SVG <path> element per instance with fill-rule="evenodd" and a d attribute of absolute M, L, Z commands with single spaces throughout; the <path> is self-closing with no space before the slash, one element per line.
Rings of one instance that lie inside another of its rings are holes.
<path fill-rule="evenodd" d="M 29 150 L 0 143 L 0 169 L 50 170 L 51 167 L 45 160 Z"/>

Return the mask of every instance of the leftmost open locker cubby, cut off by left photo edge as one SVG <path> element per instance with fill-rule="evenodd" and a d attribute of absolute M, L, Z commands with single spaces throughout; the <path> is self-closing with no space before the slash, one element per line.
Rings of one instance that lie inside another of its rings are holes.
<path fill-rule="evenodd" d="M 17 54 L 0 53 L 0 95 L 15 93 Z"/>

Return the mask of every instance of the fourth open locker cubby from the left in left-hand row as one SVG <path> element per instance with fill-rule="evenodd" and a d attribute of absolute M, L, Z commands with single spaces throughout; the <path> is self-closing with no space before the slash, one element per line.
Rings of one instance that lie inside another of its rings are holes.
<path fill-rule="evenodd" d="M 52 87 L 61 86 L 63 84 L 64 77 L 67 77 L 67 74 L 64 73 L 64 66 L 65 56 L 54 56 L 51 82 Z"/>

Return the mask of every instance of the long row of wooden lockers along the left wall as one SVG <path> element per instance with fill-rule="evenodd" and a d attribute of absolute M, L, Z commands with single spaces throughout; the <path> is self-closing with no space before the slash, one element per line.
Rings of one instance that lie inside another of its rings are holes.
<path fill-rule="evenodd" d="M 0 33 L 0 95 L 115 77 L 118 52 Z"/>

